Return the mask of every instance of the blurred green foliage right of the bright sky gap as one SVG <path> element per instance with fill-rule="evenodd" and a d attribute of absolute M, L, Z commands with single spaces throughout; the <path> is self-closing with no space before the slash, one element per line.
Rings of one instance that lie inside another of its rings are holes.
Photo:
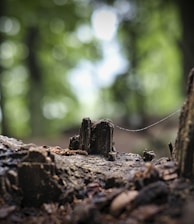
<path fill-rule="evenodd" d="M 128 4 L 124 1 L 125 8 Z M 161 116 L 181 105 L 185 88 L 178 46 L 181 25 L 174 1 L 137 0 L 130 4 L 134 15 L 129 17 L 130 7 L 121 14 L 118 30 L 128 68 L 102 94 L 107 99 L 107 114 L 114 111 L 115 119 L 125 124 L 136 120 L 142 126 L 148 115 Z"/>

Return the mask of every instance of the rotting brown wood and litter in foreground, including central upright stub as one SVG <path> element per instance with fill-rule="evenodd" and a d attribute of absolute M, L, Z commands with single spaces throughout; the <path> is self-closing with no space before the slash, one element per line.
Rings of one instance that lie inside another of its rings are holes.
<path fill-rule="evenodd" d="M 169 158 L 114 152 L 113 127 L 83 119 L 71 149 L 0 135 L 0 223 L 181 222 L 193 185 Z"/>

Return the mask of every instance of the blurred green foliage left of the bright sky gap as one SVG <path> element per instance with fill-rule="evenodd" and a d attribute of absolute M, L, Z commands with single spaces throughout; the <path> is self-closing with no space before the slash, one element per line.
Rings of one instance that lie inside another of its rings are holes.
<path fill-rule="evenodd" d="M 87 1 L 4 1 L 5 12 L 1 16 L 1 91 L 5 104 L 1 105 L 7 118 L 9 134 L 29 136 L 32 107 L 42 105 L 43 133 L 53 134 L 64 126 L 78 122 L 80 104 L 68 81 L 68 71 L 76 66 L 81 58 L 96 60 L 100 52 L 96 40 L 83 43 L 77 35 L 80 26 L 90 26 L 92 13 Z M 84 13 L 83 13 L 84 12 Z M 34 105 L 30 98 L 35 97 L 36 87 L 29 96 L 32 85 L 30 71 L 26 63 L 29 54 L 26 38 L 28 28 L 38 30 L 38 45 L 35 56 L 41 70 L 43 94 Z M 5 118 L 5 117 L 4 117 Z"/>

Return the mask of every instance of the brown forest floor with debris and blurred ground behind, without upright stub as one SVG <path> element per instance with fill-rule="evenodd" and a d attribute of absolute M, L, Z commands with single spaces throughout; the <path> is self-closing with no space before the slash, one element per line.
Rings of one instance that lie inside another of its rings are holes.
<path fill-rule="evenodd" d="M 0 136 L 0 223 L 193 224 L 194 184 L 168 149 L 176 133 L 176 122 L 115 130 L 115 161 L 65 149 L 72 134 L 35 144 Z"/>

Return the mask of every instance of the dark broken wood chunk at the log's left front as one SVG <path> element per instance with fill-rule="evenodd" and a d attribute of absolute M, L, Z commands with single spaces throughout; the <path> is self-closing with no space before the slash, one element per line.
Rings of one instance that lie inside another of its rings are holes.
<path fill-rule="evenodd" d="M 62 193 L 57 180 L 54 156 L 49 151 L 31 147 L 18 164 L 18 184 L 22 205 L 40 206 L 55 201 Z"/>

